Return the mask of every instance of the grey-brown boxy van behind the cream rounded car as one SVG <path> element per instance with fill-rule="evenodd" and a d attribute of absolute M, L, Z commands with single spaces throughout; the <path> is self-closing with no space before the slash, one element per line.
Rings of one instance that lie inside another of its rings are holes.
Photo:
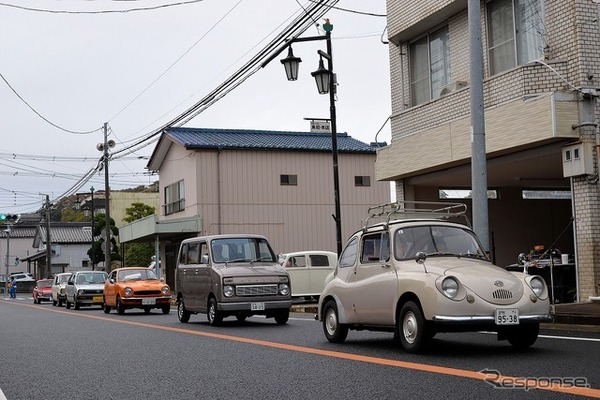
<path fill-rule="evenodd" d="M 177 317 L 206 313 L 210 325 L 252 315 L 287 323 L 290 277 L 260 235 L 213 235 L 181 243 L 175 271 Z"/>

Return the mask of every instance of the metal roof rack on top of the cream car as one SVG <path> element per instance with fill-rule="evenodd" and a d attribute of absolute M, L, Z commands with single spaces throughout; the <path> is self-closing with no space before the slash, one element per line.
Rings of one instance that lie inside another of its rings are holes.
<path fill-rule="evenodd" d="M 384 222 L 389 225 L 390 220 L 395 219 L 450 219 L 462 217 L 471 226 L 467 217 L 467 206 L 463 203 L 445 203 L 432 201 L 396 201 L 394 203 L 380 204 L 370 207 L 369 216 L 365 220 L 363 229 L 376 223 Z M 372 219 L 376 222 L 371 222 Z M 371 224 L 369 224 L 371 222 Z"/>

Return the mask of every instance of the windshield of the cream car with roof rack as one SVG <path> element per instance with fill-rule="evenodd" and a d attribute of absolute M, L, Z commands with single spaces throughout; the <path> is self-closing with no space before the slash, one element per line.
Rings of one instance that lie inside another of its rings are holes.
<path fill-rule="evenodd" d="M 398 229 L 394 234 L 394 257 L 415 258 L 417 252 L 487 259 L 474 234 L 454 226 L 416 226 Z"/>

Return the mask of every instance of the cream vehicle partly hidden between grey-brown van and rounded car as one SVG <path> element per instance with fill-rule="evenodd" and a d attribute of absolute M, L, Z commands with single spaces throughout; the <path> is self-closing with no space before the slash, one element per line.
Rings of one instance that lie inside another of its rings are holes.
<path fill-rule="evenodd" d="M 300 251 L 279 256 L 292 282 L 292 297 L 318 298 L 325 279 L 335 270 L 337 254 L 331 251 Z"/>

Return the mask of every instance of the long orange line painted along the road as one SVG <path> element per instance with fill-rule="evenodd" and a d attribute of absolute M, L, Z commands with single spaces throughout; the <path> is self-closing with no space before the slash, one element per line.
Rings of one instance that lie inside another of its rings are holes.
<path fill-rule="evenodd" d="M 430 372 L 430 373 L 434 373 L 434 374 L 456 376 L 456 377 L 460 377 L 460 378 L 469 378 L 469 379 L 475 379 L 475 380 L 482 381 L 482 382 L 485 382 L 485 379 L 488 377 L 487 375 L 485 375 L 481 372 L 478 372 L 478 371 L 470 371 L 470 370 L 464 370 L 464 369 L 458 369 L 458 368 L 443 367 L 443 366 L 439 366 L 439 365 L 420 364 L 420 363 L 409 362 L 409 361 L 392 360 L 392 359 L 388 359 L 388 358 L 362 356 L 359 354 L 343 353 L 340 351 L 332 351 L 332 350 L 322 350 L 322 349 L 316 349 L 316 348 L 312 348 L 312 347 L 297 346 L 297 345 L 293 345 L 293 344 L 285 344 L 285 343 L 278 343 L 278 342 L 270 342 L 270 341 L 266 341 L 266 340 L 251 339 L 251 338 L 246 338 L 246 337 L 241 337 L 241 336 L 233 336 L 233 335 L 225 335 L 225 334 L 215 333 L 215 332 L 194 331 L 191 329 L 175 328 L 175 327 L 171 327 L 171 326 L 153 325 L 153 324 L 147 324 L 144 322 L 125 321 L 125 320 L 104 317 L 104 316 L 78 314 L 78 313 L 74 313 L 71 311 L 63 311 L 63 310 L 59 310 L 59 309 L 55 310 L 55 309 L 51 309 L 48 307 L 31 305 L 31 304 L 19 304 L 19 306 L 38 308 L 38 309 L 42 309 L 42 310 L 46 310 L 46 311 L 55 312 L 58 314 L 65 314 L 65 315 L 71 315 L 71 316 L 83 317 L 83 318 L 91 318 L 91 319 L 97 319 L 100 321 L 108 321 L 108 322 L 114 322 L 114 323 L 119 323 L 119 324 L 124 324 L 124 325 L 139 326 L 139 327 L 143 327 L 143 328 L 184 333 L 184 334 L 188 334 L 188 335 L 202 336 L 202 337 L 208 337 L 208 338 L 213 338 L 213 339 L 222 339 L 222 340 L 253 344 L 253 345 L 257 345 L 257 346 L 270 347 L 270 348 L 281 349 L 281 350 L 296 351 L 299 353 L 315 354 L 315 355 L 320 355 L 320 356 L 339 358 L 339 359 L 343 359 L 343 360 L 365 362 L 365 363 L 376 364 L 376 365 L 385 365 L 388 367 L 411 369 L 411 370 L 415 370 L 415 371 L 423 371 L 423 372 Z M 578 387 L 578 386 L 562 386 L 562 385 L 559 385 L 556 383 L 548 383 L 548 382 L 540 381 L 537 379 L 521 378 L 521 377 L 514 377 L 514 376 L 509 376 L 509 375 L 497 375 L 497 376 L 495 376 L 495 378 L 498 379 L 499 381 L 509 380 L 509 381 L 514 382 L 515 380 L 518 380 L 523 385 L 526 385 L 526 387 L 528 389 L 539 389 L 539 390 L 546 390 L 546 391 L 551 391 L 551 392 L 566 393 L 566 394 L 572 394 L 572 395 L 577 395 L 577 396 L 585 396 L 588 398 L 600 399 L 600 389 Z"/>

